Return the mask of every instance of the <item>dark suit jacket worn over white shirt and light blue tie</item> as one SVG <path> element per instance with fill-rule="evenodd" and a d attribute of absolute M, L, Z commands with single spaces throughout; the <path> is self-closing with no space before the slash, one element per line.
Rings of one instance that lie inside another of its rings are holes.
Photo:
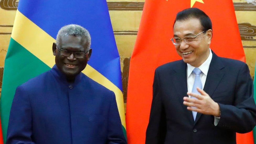
<path fill-rule="evenodd" d="M 236 143 L 236 132 L 253 129 L 256 106 L 245 63 L 213 53 L 204 91 L 220 105 L 217 126 L 212 115 L 197 113 L 194 121 L 192 112 L 183 105 L 188 91 L 186 68 L 187 64 L 179 60 L 156 69 L 146 144 Z"/>

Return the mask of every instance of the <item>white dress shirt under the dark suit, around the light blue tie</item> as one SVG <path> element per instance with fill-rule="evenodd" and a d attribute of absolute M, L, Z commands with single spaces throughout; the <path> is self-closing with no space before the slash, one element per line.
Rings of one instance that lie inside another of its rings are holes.
<path fill-rule="evenodd" d="M 208 73 L 208 70 L 209 70 L 209 67 L 210 67 L 210 63 L 211 63 L 211 60 L 212 60 L 212 51 L 211 51 L 211 49 L 209 49 L 209 50 L 210 50 L 210 55 L 204 61 L 204 63 L 202 63 L 202 65 L 200 65 L 198 67 L 202 71 L 202 73 L 200 74 L 201 83 L 202 83 L 202 89 L 204 89 L 207 73 Z M 195 74 L 192 73 L 194 68 L 196 68 L 196 67 L 191 66 L 189 63 L 187 63 L 187 86 L 188 86 L 188 92 L 192 92 L 193 84 L 194 84 L 194 81 L 195 81 Z M 190 97 L 190 95 L 189 95 L 189 97 Z M 215 126 L 217 126 L 219 121 L 220 121 L 220 117 L 214 117 L 214 125 Z"/>

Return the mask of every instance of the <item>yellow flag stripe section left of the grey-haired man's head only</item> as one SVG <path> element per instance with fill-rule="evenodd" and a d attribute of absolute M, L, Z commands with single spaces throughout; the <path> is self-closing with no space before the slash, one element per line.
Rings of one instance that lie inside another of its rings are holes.
<path fill-rule="evenodd" d="M 52 43 L 55 39 L 17 10 L 11 37 L 49 67 L 55 64 Z"/>

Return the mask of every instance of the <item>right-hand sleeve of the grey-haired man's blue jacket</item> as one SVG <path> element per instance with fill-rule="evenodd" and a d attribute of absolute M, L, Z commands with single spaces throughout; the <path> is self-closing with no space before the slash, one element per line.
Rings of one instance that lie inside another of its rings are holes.
<path fill-rule="evenodd" d="M 108 144 L 126 144 L 122 123 L 116 104 L 115 94 L 112 92 L 108 115 Z"/>

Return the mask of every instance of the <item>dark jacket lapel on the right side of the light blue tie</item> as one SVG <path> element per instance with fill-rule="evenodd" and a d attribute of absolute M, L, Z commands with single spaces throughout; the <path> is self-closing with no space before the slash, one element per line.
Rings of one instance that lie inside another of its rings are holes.
<path fill-rule="evenodd" d="M 209 71 L 207 73 L 204 91 L 212 96 L 214 91 L 216 90 L 218 84 L 225 74 L 224 65 L 221 62 L 220 58 L 212 51 L 212 60 L 210 63 Z M 211 97 L 212 98 L 212 97 Z M 201 113 L 197 113 L 195 124 L 201 117 Z"/>

